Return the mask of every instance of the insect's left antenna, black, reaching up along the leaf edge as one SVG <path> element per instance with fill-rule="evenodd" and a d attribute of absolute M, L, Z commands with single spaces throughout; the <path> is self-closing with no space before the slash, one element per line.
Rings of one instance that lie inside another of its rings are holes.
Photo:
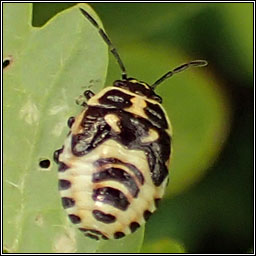
<path fill-rule="evenodd" d="M 126 74 L 126 69 L 125 66 L 116 50 L 116 48 L 114 47 L 114 45 L 112 44 L 111 40 L 109 39 L 109 37 L 107 36 L 107 34 L 103 31 L 103 29 L 99 26 L 99 24 L 97 23 L 97 21 L 88 13 L 86 12 L 84 9 L 79 8 L 80 11 L 82 12 L 82 14 L 91 22 L 91 24 L 93 26 L 95 26 L 98 29 L 98 32 L 100 34 L 100 36 L 102 37 L 102 39 L 106 42 L 106 44 L 109 46 L 111 53 L 114 55 L 115 59 L 117 60 L 121 71 L 122 71 L 122 79 L 126 80 L 127 79 L 127 74 Z"/>

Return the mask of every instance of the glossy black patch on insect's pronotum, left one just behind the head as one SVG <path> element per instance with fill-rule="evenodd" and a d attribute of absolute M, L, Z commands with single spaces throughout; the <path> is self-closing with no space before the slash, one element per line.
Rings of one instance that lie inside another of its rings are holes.
<path fill-rule="evenodd" d="M 119 90 L 107 91 L 101 98 L 99 98 L 99 103 L 107 108 L 127 108 L 132 105 L 131 96 Z"/>

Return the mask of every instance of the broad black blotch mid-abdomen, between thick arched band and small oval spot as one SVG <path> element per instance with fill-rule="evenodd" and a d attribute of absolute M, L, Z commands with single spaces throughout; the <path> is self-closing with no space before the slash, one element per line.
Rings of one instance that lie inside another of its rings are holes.
<path fill-rule="evenodd" d="M 111 187 L 94 189 L 92 198 L 94 201 L 112 205 L 122 211 L 125 211 L 130 204 L 123 192 Z"/>

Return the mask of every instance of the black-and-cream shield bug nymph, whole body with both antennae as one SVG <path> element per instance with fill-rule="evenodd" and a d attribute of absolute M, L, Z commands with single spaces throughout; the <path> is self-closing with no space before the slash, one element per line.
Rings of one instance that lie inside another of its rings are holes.
<path fill-rule="evenodd" d="M 84 92 L 84 109 L 70 117 L 70 133 L 54 152 L 59 190 L 68 217 L 90 238 L 118 239 L 135 232 L 156 210 L 168 183 L 171 124 L 156 87 L 189 67 L 169 71 L 153 85 L 128 78 L 107 34 L 85 10 L 122 71 L 122 79 L 98 94 Z"/>

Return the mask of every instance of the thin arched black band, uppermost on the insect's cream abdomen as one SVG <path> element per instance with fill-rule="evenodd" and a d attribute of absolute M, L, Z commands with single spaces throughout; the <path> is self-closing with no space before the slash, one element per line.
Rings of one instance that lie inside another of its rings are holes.
<path fill-rule="evenodd" d="M 134 175 L 136 176 L 136 178 L 139 180 L 140 184 L 144 184 L 144 176 L 143 174 L 140 172 L 140 170 L 133 164 L 130 163 L 125 163 L 117 158 L 101 158 L 97 161 L 95 161 L 95 166 L 96 167 L 103 167 L 106 164 L 120 164 L 120 165 L 124 165 L 125 167 L 129 168 L 130 171 L 132 171 L 134 173 Z"/>

